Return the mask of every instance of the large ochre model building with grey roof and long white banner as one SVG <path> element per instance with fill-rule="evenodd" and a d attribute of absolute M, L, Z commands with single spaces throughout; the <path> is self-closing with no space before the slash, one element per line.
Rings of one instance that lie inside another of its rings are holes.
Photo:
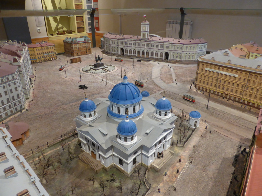
<path fill-rule="evenodd" d="M 234 56 L 219 50 L 198 59 L 194 85 L 196 89 L 262 108 L 262 58 Z"/>

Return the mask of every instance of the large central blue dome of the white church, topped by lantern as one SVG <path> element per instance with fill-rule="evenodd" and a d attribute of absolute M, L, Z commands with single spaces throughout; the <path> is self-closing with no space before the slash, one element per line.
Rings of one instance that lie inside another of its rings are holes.
<path fill-rule="evenodd" d="M 127 76 L 124 76 L 123 82 L 111 90 L 108 99 L 117 104 L 133 104 L 141 101 L 142 95 L 134 84 L 127 82 Z"/>

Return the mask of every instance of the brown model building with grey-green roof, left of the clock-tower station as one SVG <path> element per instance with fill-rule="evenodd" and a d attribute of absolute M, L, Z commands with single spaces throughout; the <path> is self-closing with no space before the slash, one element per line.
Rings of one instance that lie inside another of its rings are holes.
<path fill-rule="evenodd" d="M 65 54 L 71 56 L 80 56 L 91 54 L 91 41 L 87 36 L 81 37 L 67 37 L 63 40 Z"/>

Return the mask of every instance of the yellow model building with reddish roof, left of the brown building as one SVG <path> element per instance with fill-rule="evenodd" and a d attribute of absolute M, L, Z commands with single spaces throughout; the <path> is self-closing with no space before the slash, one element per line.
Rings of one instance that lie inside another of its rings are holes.
<path fill-rule="evenodd" d="M 52 43 L 41 42 L 27 45 L 32 63 L 52 61 L 57 59 L 56 47 Z"/>

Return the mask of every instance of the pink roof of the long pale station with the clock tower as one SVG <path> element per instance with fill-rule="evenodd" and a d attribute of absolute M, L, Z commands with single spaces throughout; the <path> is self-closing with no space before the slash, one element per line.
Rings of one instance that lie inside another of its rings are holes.
<path fill-rule="evenodd" d="M 111 33 L 104 34 L 104 37 L 111 38 L 111 39 L 141 39 L 141 36 L 133 36 L 133 35 L 116 35 Z M 175 39 L 175 38 L 168 38 L 168 37 L 149 37 L 148 40 L 152 41 L 160 41 L 160 42 L 170 42 L 170 43 L 178 43 L 178 44 L 202 44 L 207 43 L 203 38 L 200 39 Z"/>

